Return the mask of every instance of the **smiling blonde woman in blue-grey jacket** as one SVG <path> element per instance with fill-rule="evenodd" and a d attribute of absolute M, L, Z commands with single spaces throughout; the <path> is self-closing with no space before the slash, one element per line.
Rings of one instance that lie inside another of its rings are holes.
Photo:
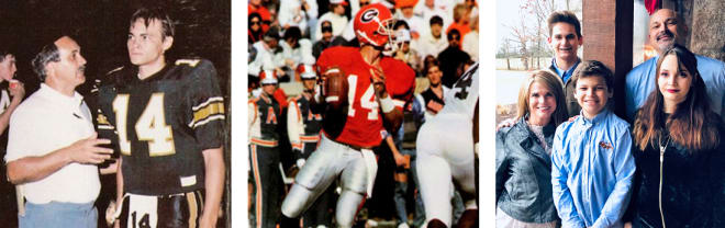
<path fill-rule="evenodd" d="M 551 142 L 567 119 L 561 81 L 531 73 L 518 91 L 517 122 L 497 133 L 497 227 L 557 227 L 551 193 Z"/>

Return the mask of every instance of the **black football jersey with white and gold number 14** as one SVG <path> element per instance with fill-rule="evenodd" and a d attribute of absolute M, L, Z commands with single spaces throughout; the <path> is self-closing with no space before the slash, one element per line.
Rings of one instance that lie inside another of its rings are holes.
<path fill-rule="evenodd" d="M 223 145 L 224 100 L 209 60 L 182 59 L 141 80 L 136 67 L 98 86 L 99 137 L 123 158 L 124 192 L 166 195 L 204 187 L 202 151 Z"/>

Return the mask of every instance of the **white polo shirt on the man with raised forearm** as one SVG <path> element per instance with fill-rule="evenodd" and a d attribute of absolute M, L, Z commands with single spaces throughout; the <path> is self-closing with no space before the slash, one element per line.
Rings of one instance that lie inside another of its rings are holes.
<path fill-rule="evenodd" d="M 21 103 L 10 117 L 8 153 L 11 162 L 29 156 L 44 156 L 93 134 L 93 123 L 83 96 L 67 96 L 45 83 Z M 89 203 L 101 190 L 98 167 L 70 163 L 35 182 L 21 184 L 25 198 L 34 204 L 48 202 Z"/>

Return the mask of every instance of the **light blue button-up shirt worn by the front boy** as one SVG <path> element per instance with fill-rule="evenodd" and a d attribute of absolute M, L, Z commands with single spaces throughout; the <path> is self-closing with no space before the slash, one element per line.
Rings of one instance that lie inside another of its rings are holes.
<path fill-rule="evenodd" d="M 635 172 L 629 124 L 609 110 L 579 115 L 556 129 L 554 204 L 562 227 L 622 225 Z"/>

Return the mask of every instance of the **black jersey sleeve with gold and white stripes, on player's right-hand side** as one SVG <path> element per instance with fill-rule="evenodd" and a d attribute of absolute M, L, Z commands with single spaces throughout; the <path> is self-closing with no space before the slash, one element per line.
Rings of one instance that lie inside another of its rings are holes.
<path fill-rule="evenodd" d="M 217 148 L 224 141 L 224 96 L 220 90 L 216 69 L 205 59 L 180 59 L 176 65 L 190 67 L 190 84 L 186 96 L 188 126 L 193 130 L 202 150 Z"/>

